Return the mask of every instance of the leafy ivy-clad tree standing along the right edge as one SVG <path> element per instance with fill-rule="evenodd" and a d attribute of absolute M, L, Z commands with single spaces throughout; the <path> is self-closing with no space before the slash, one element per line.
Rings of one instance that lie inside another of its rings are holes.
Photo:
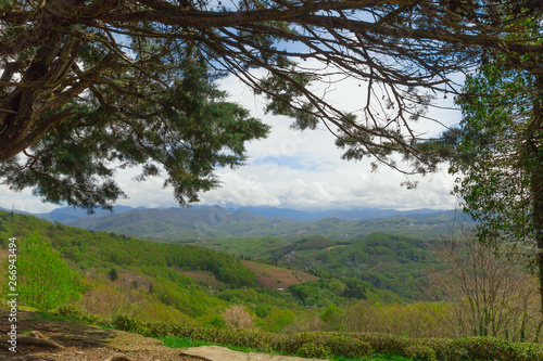
<path fill-rule="evenodd" d="M 530 29 L 541 34 L 541 22 L 525 24 L 526 33 L 512 37 L 542 43 L 527 37 Z M 541 53 L 525 59 L 543 65 Z M 468 76 L 456 102 L 463 120 L 443 137 L 454 149 L 454 192 L 480 221 L 480 241 L 505 243 L 509 256 L 535 266 L 543 302 L 543 76 L 492 56 Z"/>

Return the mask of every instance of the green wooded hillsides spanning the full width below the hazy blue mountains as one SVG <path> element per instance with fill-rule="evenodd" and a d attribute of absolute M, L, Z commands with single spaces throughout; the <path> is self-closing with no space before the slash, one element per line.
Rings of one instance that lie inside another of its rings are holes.
<path fill-rule="evenodd" d="M 539 341 L 542 337 L 533 278 L 514 268 L 509 273 L 500 273 L 504 275 L 498 284 L 510 285 L 489 291 L 501 295 L 500 302 L 484 304 L 473 299 L 479 294 L 463 295 L 456 288 L 439 291 L 435 280 L 426 275 L 453 276 L 454 269 L 443 258 L 437 260 L 433 247 L 442 246 L 437 241 L 371 233 L 356 240 L 302 235 L 292 242 L 262 236 L 197 240 L 191 245 L 155 243 L 0 211 L 2 247 L 13 236 L 23 245 L 29 232 L 41 234 L 43 242 L 62 254 L 75 275 L 74 287 L 80 298 L 61 306 L 64 315 L 102 319 L 106 320 L 104 325 L 121 330 L 162 336 L 166 328 L 161 327 L 169 327 L 179 337 L 219 344 L 231 340 L 249 347 L 254 340 L 257 347 L 277 350 L 285 349 L 276 343 L 290 338 L 275 334 L 302 333 L 296 336 L 300 344 L 291 351 L 301 356 L 312 356 L 307 352 L 317 344 L 323 354 L 333 353 L 341 337 L 350 339 L 367 333 L 359 339 L 369 344 L 367 352 L 388 350 L 424 360 L 434 360 L 434 356 L 454 351 L 460 344 L 460 348 L 470 348 L 458 349 L 465 354 L 479 354 L 471 349 L 478 347 L 496 352 L 515 347 L 518 354 L 525 348 L 487 338 L 458 343 L 424 339 L 412 344 L 374 333 L 417 339 L 477 335 Z M 485 257 L 492 255 L 491 249 L 485 252 Z M 8 254 L 0 252 L 0 259 Z M 507 270 L 504 260 L 487 261 L 496 270 Z M 475 276 L 485 272 L 478 271 Z M 444 281 L 451 283 L 454 279 Z M 432 296 L 441 297 L 440 301 L 425 300 L 427 289 L 438 289 Z M 446 298 L 447 292 L 455 299 Z M 24 299 L 21 301 L 23 305 Z M 480 312 L 470 308 L 470 302 L 477 302 Z M 166 326 L 161 322 L 173 323 Z M 306 332 L 321 334 L 304 336 Z M 341 333 L 340 338 L 327 332 Z M 382 343 L 390 343 L 390 348 Z M 337 351 L 338 356 L 346 356 Z"/>

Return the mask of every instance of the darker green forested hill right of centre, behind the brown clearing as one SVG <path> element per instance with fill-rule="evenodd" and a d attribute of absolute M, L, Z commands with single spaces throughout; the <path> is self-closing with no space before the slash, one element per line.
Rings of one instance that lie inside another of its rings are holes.
<path fill-rule="evenodd" d="M 405 298 L 425 299 L 426 273 L 435 266 L 431 250 L 435 242 L 376 232 L 352 242 L 312 235 L 291 243 L 277 237 L 249 237 L 205 245 L 325 278 L 346 278 L 342 282 L 364 281 Z"/>

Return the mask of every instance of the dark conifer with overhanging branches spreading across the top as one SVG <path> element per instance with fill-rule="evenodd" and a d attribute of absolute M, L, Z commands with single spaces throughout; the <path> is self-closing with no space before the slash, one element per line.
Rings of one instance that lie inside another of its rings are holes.
<path fill-rule="evenodd" d="M 541 12 L 529 0 L 0 0 L 0 176 L 92 209 L 123 195 L 115 167 L 143 165 L 144 179 L 160 164 L 177 199 L 195 201 L 267 131 L 216 90 L 227 74 L 294 127 L 323 121 L 348 159 L 396 167 L 400 152 L 406 171 L 432 171 L 440 157 L 413 123 L 454 91 L 447 75 L 489 56 L 541 75 L 541 33 L 526 28 Z M 338 76 L 364 85 L 359 114 L 316 91 Z"/>

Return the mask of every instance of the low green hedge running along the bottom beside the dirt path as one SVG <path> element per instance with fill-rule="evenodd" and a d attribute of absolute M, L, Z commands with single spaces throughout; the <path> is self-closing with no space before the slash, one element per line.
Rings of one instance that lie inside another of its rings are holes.
<path fill-rule="evenodd" d="M 543 360 L 543 345 L 512 343 L 492 337 L 407 338 L 374 333 L 299 333 L 279 335 L 245 330 L 224 330 L 191 324 L 141 322 L 127 315 L 102 320 L 80 308 L 62 306 L 58 315 L 135 332 L 144 336 L 177 336 L 301 357 L 363 358 L 376 353 L 396 354 L 421 361 L 538 361 Z"/>

